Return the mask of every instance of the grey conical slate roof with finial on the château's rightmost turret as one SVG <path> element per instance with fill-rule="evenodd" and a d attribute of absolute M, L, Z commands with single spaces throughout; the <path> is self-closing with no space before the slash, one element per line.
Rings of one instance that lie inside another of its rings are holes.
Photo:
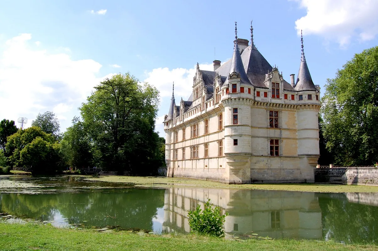
<path fill-rule="evenodd" d="M 299 65 L 299 71 L 297 75 L 297 82 L 295 84 L 295 90 L 297 91 L 316 91 L 314 82 L 312 81 L 310 71 L 308 70 L 305 53 L 303 50 L 303 36 L 301 30 L 301 65 Z"/>

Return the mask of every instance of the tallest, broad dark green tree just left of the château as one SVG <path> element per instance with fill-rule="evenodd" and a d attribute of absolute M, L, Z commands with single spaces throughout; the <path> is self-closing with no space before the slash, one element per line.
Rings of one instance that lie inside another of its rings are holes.
<path fill-rule="evenodd" d="M 80 108 L 95 163 L 120 173 L 156 172 L 161 166 L 159 136 L 154 132 L 158 90 L 139 84 L 129 73 L 105 79 L 95 89 Z"/>

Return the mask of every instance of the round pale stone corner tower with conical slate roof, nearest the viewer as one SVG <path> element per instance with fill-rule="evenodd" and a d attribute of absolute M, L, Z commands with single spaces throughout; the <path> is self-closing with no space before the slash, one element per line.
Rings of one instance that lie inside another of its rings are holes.
<path fill-rule="evenodd" d="M 228 90 L 222 105 L 225 109 L 226 181 L 229 183 L 251 183 L 251 99 L 244 97 L 248 87 L 253 88 L 240 56 L 235 22 L 235 48 L 228 78 L 222 86 Z"/>

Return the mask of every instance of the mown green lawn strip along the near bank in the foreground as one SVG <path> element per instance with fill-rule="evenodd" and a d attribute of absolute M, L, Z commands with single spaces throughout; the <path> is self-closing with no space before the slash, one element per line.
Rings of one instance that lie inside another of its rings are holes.
<path fill-rule="evenodd" d="M 378 250 L 375 245 L 343 245 L 316 240 L 246 240 L 231 241 L 196 235 L 140 236 L 127 232 L 96 232 L 91 229 L 61 229 L 35 223 L 0 222 L 0 249 L 94 251 L 94 250 Z"/>

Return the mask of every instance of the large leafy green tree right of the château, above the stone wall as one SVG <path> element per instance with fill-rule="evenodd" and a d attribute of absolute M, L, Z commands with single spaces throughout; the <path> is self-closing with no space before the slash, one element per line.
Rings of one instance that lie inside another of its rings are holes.
<path fill-rule="evenodd" d="M 325 90 L 322 129 L 335 164 L 378 161 L 378 46 L 355 54 Z"/>

